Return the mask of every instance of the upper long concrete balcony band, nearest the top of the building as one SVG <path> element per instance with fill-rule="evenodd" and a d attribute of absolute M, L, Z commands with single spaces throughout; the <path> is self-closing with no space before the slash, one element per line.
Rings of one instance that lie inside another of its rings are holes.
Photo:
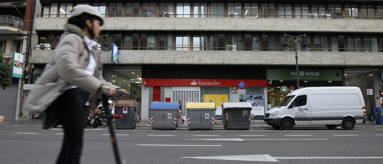
<path fill-rule="evenodd" d="M 105 17 L 108 31 L 278 31 L 383 33 L 382 20 L 310 18 Z M 37 31 L 61 31 L 67 18 L 38 17 Z"/>

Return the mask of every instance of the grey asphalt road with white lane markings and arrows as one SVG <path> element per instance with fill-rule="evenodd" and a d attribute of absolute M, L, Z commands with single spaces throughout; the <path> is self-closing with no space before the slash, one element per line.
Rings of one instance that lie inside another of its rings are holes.
<path fill-rule="evenodd" d="M 109 131 L 85 130 L 81 163 L 113 164 Z M 62 133 L 61 128 L 0 126 L 0 163 L 54 163 Z M 117 136 L 118 146 L 121 158 L 128 163 L 383 163 L 383 128 L 351 131 L 137 128 L 117 130 L 116 134 L 121 134 Z"/>

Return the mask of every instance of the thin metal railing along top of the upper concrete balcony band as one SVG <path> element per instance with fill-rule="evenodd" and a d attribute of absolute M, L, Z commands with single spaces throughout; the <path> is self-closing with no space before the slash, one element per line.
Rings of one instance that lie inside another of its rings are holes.
<path fill-rule="evenodd" d="M 165 17 L 164 14 L 101 14 L 105 17 Z M 69 14 L 39 14 L 38 17 L 69 17 Z M 236 18 L 319 18 L 327 19 L 379 19 L 383 20 L 383 16 L 342 16 L 342 15 L 331 15 L 331 16 L 310 16 L 310 15 L 260 15 L 260 14 L 173 14 L 173 17 L 177 18 L 231 18 L 230 16 Z"/>

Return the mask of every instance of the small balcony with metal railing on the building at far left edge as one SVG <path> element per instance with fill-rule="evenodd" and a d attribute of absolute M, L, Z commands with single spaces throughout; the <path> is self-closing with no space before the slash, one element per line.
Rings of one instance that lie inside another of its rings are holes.
<path fill-rule="evenodd" d="M 24 20 L 21 18 L 0 15 L 0 34 L 22 34 L 24 28 Z"/>

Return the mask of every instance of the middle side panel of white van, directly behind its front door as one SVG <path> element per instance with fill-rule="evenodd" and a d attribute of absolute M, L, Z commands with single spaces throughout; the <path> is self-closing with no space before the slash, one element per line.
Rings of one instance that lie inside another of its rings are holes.
<path fill-rule="evenodd" d="M 336 124 L 336 107 L 332 93 L 310 94 L 311 125 Z M 331 91 L 332 92 L 332 91 Z"/>

